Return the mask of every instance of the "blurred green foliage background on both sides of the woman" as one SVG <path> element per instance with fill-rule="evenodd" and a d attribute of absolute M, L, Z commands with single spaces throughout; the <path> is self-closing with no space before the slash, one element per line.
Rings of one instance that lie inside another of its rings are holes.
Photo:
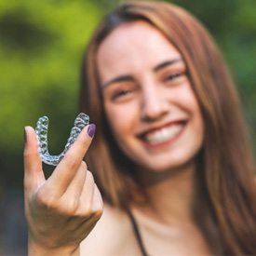
<path fill-rule="evenodd" d="M 11 210 L 17 213 L 14 220 L 23 223 L 23 127 L 34 126 L 39 116 L 47 115 L 50 152 L 61 152 L 78 111 L 80 64 L 88 38 L 118 2 L 0 0 L 1 222 L 12 222 Z M 235 77 L 255 145 L 256 1 L 169 2 L 191 11 L 215 37 Z M 25 253 L 26 238 L 13 236 L 14 223 L 0 227 L 0 248 L 8 255 Z M 20 234 L 25 228 L 23 223 Z M 14 241 L 20 249 L 13 250 Z"/>

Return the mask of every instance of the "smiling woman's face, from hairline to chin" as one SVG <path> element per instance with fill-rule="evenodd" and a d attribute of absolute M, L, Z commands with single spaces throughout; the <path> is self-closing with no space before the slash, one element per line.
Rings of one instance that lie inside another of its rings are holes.
<path fill-rule="evenodd" d="M 202 146 L 204 125 L 182 56 L 153 26 L 116 28 L 97 54 L 105 112 L 115 140 L 136 164 L 181 167 Z"/>

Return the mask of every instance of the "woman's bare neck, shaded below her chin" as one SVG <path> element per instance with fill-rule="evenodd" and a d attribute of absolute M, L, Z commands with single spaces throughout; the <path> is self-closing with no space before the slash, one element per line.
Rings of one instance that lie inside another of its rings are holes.
<path fill-rule="evenodd" d="M 142 171 L 147 201 L 136 205 L 141 213 L 168 224 L 193 221 L 195 163 L 165 172 Z"/>

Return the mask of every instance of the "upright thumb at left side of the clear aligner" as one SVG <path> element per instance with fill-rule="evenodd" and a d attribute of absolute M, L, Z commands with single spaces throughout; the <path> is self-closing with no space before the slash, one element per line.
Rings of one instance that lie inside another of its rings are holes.
<path fill-rule="evenodd" d="M 38 154 L 38 142 L 34 128 L 24 128 L 24 186 L 30 189 L 46 181 L 42 168 L 41 157 Z"/>

